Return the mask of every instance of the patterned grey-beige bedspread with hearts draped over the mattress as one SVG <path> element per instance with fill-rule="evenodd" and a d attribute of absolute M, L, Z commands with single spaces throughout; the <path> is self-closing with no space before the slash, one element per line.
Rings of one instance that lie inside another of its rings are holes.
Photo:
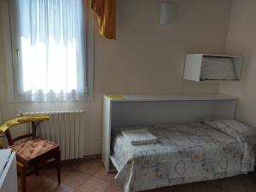
<path fill-rule="evenodd" d="M 115 182 L 125 192 L 231 177 L 241 173 L 242 145 L 205 124 L 152 125 L 154 144 L 133 146 L 120 132 L 113 139 Z"/>

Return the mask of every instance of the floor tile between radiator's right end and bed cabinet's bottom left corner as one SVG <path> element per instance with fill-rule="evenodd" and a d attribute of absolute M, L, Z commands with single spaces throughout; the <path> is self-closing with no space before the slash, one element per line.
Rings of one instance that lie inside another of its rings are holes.
<path fill-rule="evenodd" d="M 98 170 L 100 170 L 102 166 L 102 160 L 85 160 L 77 167 L 77 169 L 79 169 L 82 172 L 94 174 Z"/>

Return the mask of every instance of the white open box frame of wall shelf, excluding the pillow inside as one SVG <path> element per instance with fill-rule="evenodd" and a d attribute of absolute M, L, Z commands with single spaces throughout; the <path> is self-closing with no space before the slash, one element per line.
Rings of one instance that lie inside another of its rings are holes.
<path fill-rule="evenodd" d="M 234 67 L 234 73 L 236 79 L 232 81 L 238 81 L 241 78 L 241 68 L 243 64 L 243 57 L 241 55 L 209 55 L 209 54 L 187 54 L 184 67 L 183 79 L 190 81 L 223 81 L 228 79 L 201 79 L 201 69 L 203 65 L 203 58 L 230 58 Z"/>

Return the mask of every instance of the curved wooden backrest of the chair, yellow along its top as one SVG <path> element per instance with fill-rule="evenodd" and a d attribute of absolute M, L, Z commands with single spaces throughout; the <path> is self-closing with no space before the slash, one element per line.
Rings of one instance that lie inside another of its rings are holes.
<path fill-rule="evenodd" d="M 49 116 L 20 116 L 15 119 L 10 119 L 0 126 L 0 133 L 3 133 L 7 137 L 9 146 L 11 146 L 20 139 L 26 137 L 37 137 L 37 127 L 44 120 L 49 120 Z M 27 133 L 15 138 L 11 136 L 9 131 L 11 127 L 30 122 L 32 123 L 32 133 Z"/>

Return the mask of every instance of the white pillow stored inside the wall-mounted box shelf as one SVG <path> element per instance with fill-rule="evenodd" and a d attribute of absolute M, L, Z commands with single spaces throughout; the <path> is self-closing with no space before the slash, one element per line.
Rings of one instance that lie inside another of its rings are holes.
<path fill-rule="evenodd" d="M 202 58 L 202 80 L 235 80 L 235 70 L 231 58 L 206 57 Z"/>

